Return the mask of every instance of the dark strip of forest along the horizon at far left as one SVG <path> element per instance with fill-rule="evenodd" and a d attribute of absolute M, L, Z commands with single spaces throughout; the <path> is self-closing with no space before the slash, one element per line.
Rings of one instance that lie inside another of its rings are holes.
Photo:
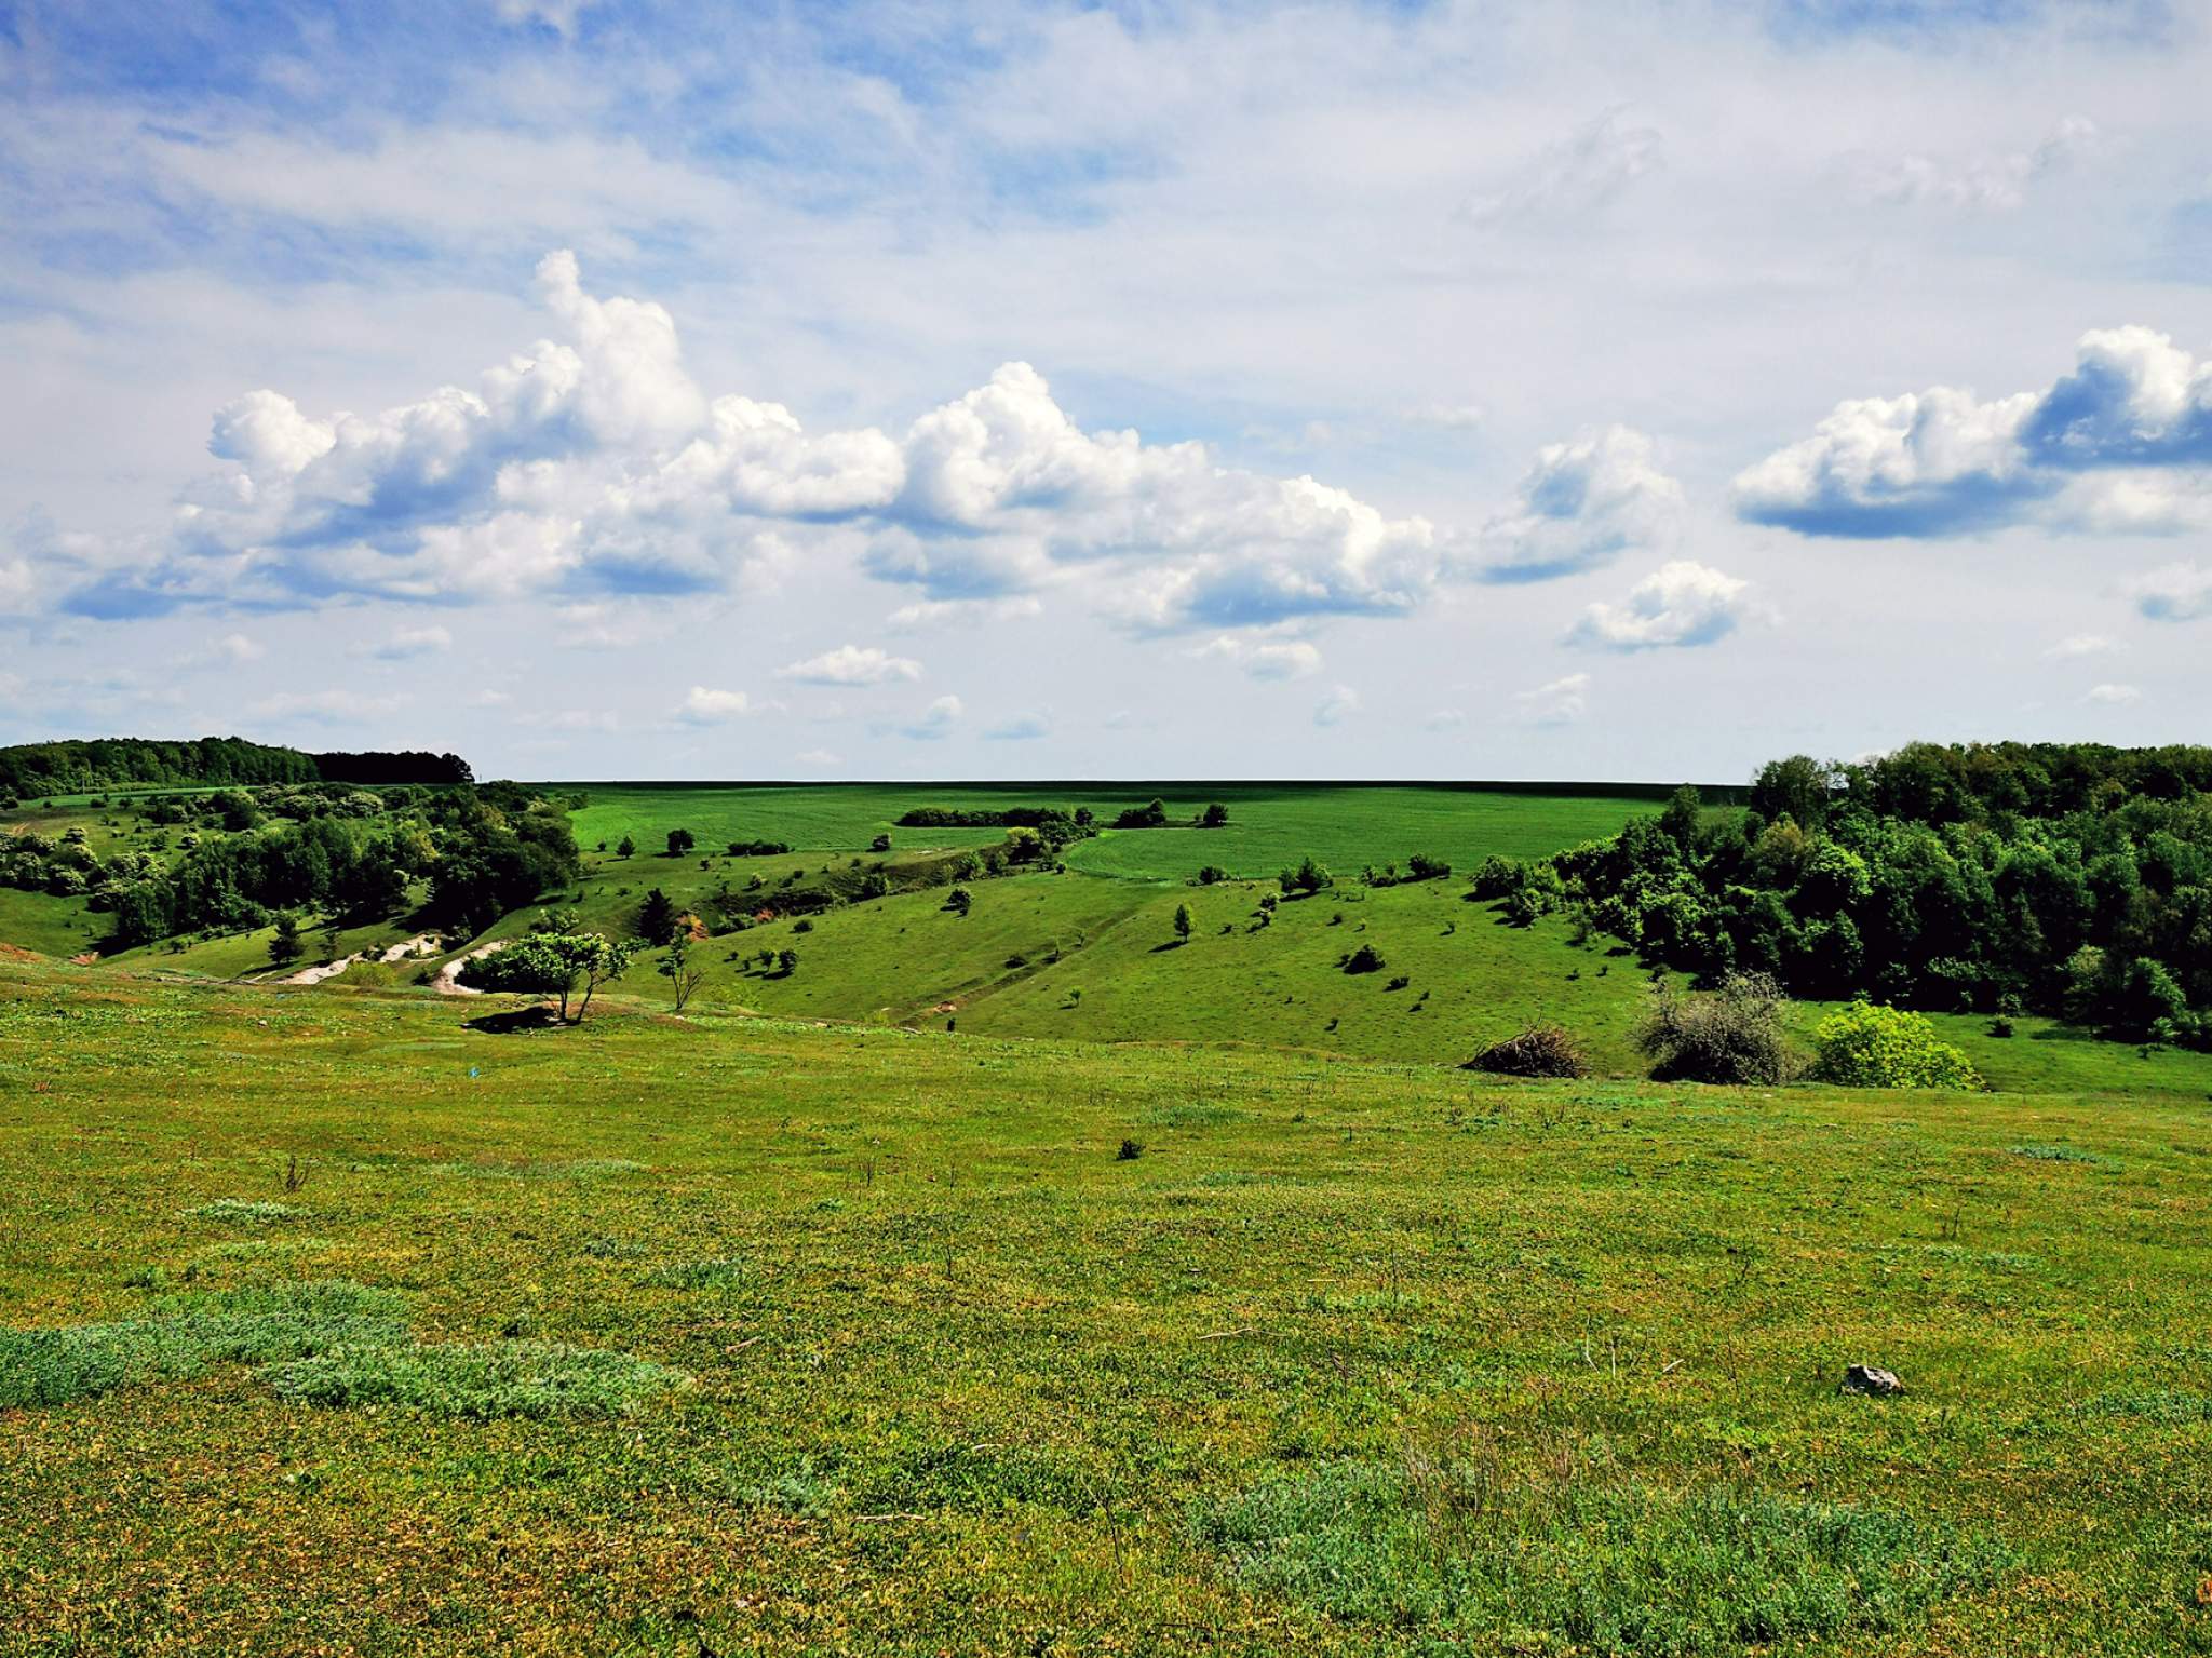
<path fill-rule="evenodd" d="M 458 754 L 303 754 L 248 743 L 243 736 L 201 736 L 164 743 L 144 736 L 102 736 L 64 743 L 0 747 L 0 796 L 86 794 L 150 783 L 199 787 L 270 783 L 471 783 Z"/>

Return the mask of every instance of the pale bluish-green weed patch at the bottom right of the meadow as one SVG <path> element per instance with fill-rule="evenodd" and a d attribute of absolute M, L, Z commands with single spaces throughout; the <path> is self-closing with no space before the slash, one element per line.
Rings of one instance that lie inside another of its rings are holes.
<path fill-rule="evenodd" d="M 1201 1503 L 1192 1528 L 1329 1618 L 1606 1658 L 1891 1636 L 2002 1565 L 1911 1514 L 1473 1466 L 1334 1463 Z"/>

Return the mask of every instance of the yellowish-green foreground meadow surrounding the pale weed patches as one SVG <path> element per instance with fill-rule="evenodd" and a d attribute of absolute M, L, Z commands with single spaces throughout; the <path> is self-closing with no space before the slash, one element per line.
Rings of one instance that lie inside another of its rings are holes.
<path fill-rule="evenodd" d="M 1413 1651 L 1449 1605 L 1325 1620 L 1194 1523 L 1347 1468 L 1411 1470 L 1385 1519 L 1506 1565 L 1502 1505 L 1617 1492 L 2002 1552 L 1794 1651 L 2212 1640 L 2201 1101 L 469 1012 L 0 966 L 0 1158 L 35 1172 L 0 1183 L 0 1324 L 135 1315 L 142 1269 L 343 1276 L 425 1340 L 692 1377 L 619 1424 L 281 1404 L 239 1366 L 7 1413 L 0 1649 Z M 188 1214 L 283 1198 L 292 1154 L 305 1218 Z M 1847 1360 L 1909 1393 L 1836 1397 Z"/>

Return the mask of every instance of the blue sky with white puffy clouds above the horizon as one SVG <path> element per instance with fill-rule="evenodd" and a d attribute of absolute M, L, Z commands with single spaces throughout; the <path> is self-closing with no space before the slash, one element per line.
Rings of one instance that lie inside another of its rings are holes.
<path fill-rule="evenodd" d="M 2203 738 L 2203 7 L 0 4 L 0 741 Z"/>

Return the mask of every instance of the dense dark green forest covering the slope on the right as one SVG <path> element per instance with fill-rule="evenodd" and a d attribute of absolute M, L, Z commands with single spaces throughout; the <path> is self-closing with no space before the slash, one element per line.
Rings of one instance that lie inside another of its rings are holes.
<path fill-rule="evenodd" d="M 2212 749 L 1913 743 L 1763 767 L 1743 811 L 1683 789 L 1478 893 L 1573 909 L 1655 962 L 1809 997 L 2035 1010 L 2212 1046 Z"/>

